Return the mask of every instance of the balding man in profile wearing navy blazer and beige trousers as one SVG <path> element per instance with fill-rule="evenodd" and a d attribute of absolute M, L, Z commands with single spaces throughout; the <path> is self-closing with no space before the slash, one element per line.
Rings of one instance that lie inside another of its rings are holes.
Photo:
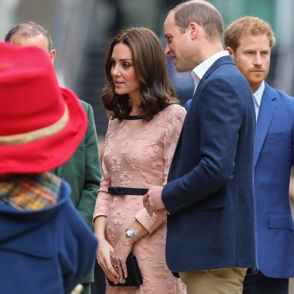
<path fill-rule="evenodd" d="M 167 184 L 153 186 L 149 214 L 167 209 L 166 262 L 191 293 L 242 293 L 256 271 L 253 145 L 255 113 L 248 82 L 223 49 L 223 19 L 206 1 L 172 9 L 166 55 L 191 71 L 196 89 Z M 247 270 L 248 269 L 248 270 Z"/>

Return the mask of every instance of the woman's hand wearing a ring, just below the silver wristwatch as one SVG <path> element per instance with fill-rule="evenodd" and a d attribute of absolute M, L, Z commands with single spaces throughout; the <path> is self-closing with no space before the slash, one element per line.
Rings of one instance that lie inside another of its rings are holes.
<path fill-rule="evenodd" d="M 116 247 L 114 248 L 112 255 L 111 255 L 111 263 L 116 267 L 117 273 L 119 274 L 119 280 L 123 280 L 127 278 L 128 271 L 127 271 L 127 257 L 132 251 L 134 241 L 130 238 L 127 238 L 125 235 L 120 238 Z"/>

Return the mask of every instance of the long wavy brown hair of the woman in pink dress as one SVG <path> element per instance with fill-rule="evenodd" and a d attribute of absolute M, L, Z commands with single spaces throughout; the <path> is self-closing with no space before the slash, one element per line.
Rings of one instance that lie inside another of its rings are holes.
<path fill-rule="evenodd" d="M 105 113 L 111 119 L 124 120 L 131 111 L 128 94 L 115 93 L 111 77 L 112 54 L 116 44 L 121 43 L 132 51 L 133 67 L 141 81 L 139 116 L 150 121 L 155 114 L 171 103 L 178 102 L 174 87 L 168 77 L 164 48 L 158 36 L 144 27 L 120 30 L 109 45 L 105 60 L 105 75 L 108 84 L 101 97 Z"/>

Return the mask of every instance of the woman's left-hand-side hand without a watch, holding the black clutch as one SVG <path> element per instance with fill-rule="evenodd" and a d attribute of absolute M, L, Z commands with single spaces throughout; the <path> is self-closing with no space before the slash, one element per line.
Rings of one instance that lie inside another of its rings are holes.
<path fill-rule="evenodd" d="M 111 259 L 114 248 L 105 239 L 99 240 L 99 246 L 96 253 L 98 265 L 102 268 L 107 278 L 115 284 L 119 282 L 120 275 L 115 269 L 116 263 Z"/>

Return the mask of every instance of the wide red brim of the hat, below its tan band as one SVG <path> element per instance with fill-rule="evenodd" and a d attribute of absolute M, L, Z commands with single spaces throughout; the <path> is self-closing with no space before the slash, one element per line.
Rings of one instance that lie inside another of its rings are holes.
<path fill-rule="evenodd" d="M 73 91 L 61 88 L 61 93 L 69 113 L 66 126 L 46 138 L 23 144 L 0 145 L 0 174 L 50 171 L 75 153 L 86 133 L 88 118 Z"/>

